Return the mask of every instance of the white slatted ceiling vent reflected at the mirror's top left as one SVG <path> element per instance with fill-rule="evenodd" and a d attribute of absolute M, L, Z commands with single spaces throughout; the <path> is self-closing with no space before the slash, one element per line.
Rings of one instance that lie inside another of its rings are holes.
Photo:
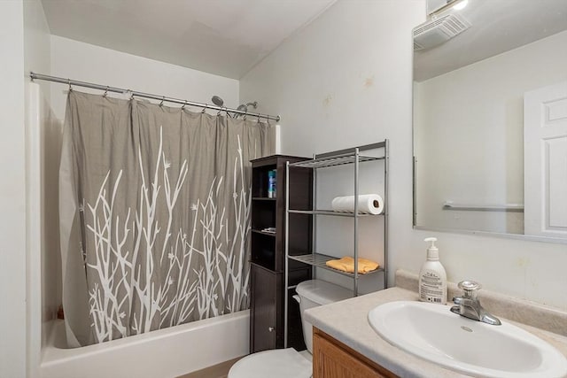
<path fill-rule="evenodd" d="M 414 50 L 429 49 L 460 35 L 470 27 L 462 16 L 447 14 L 414 30 Z"/>

